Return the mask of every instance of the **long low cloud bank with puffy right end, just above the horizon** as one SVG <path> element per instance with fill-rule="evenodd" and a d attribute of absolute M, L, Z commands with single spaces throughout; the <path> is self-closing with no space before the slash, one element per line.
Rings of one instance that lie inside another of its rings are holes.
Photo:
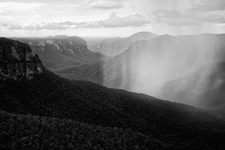
<path fill-rule="evenodd" d="M 9 30 L 66 30 L 76 28 L 119 28 L 119 27 L 141 27 L 150 24 L 151 21 L 140 14 L 130 14 L 119 17 L 117 13 L 112 13 L 109 18 L 93 22 L 53 22 L 33 24 L 28 26 L 7 25 Z"/>

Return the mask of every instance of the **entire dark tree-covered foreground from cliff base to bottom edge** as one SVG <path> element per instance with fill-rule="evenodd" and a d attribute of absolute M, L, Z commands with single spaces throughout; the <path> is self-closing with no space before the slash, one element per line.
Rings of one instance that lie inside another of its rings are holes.
<path fill-rule="evenodd" d="M 42 140 L 46 138 L 47 140 L 49 138 L 56 140 L 58 135 L 54 133 L 57 128 L 65 130 L 60 133 L 64 136 L 64 132 L 74 131 L 73 124 L 76 124 L 75 128 L 85 132 L 81 137 L 86 133 L 92 134 L 85 126 L 90 129 L 98 126 L 102 132 L 93 131 L 93 134 L 96 133 L 97 137 L 100 136 L 99 134 L 104 135 L 105 138 L 99 139 L 102 143 L 97 144 L 103 148 L 105 142 L 116 144 L 117 140 L 122 137 L 127 137 L 125 143 L 135 141 L 136 144 L 130 145 L 133 149 L 135 147 L 139 149 L 137 147 L 141 145 L 143 149 L 146 147 L 150 149 L 151 146 L 159 149 L 184 147 L 222 149 L 224 147 L 224 122 L 188 105 L 163 101 L 144 94 L 109 89 L 88 81 L 69 80 L 48 70 L 43 74 L 36 74 L 30 81 L 1 81 L 0 88 L 2 120 L 0 126 L 3 148 L 12 146 L 10 142 L 17 140 L 16 145 L 25 146 L 27 144 L 24 144 L 23 140 L 9 138 L 12 135 L 14 138 L 19 138 L 17 135 L 14 136 L 17 133 L 14 130 L 21 130 L 16 126 L 21 119 L 25 121 L 22 121 L 23 126 L 38 122 L 38 120 L 45 122 L 45 125 L 38 129 L 35 129 L 35 125 L 28 127 L 26 133 L 21 135 L 25 139 L 34 134 L 33 130 L 43 130 L 43 134 L 47 134 L 47 137 L 44 136 L 45 138 L 41 138 Z M 51 124 L 50 122 L 55 126 L 51 125 L 52 128 L 48 129 L 47 126 Z M 15 124 L 14 127 L 12 124 Z M 76 127 L 77 124 L 83 126 Z M 130 137 L 127 135 L 127 129 L 131 133 Z M 108 135 L 108 132 L 118 134 L 118 137 L 115 137 L 116 141 L 106 141 L 111 136 Z M 72 133 L 68 134 L 74 137 Z M 3 140 L 5 136 L 9 138 L 8 141 Z M 144 138 L 141 140 L 144 143 L 138 142 L 136 137 L 139 136 Z M 78 137 L 80 138 L 80 136 Z M 91 138 L 91 136 L 89 137 Z M 89 137 L 86 137 L 87 141 Z M 93 140 L 91 142 L 94 142 Z M 55 142 L 59 144 L 57 140 Z M 37 143 L 43 146 L 40 141 Z M 87 144 L 85 143 L 83 146 Z M 72 145 L 76 147 L 76 145 Z M 93 143 L 92 145 L 96 146 Z M 116 149 L 123 149 L 123 146 L 122 143 L 119 143 L 120 148 Z"/>

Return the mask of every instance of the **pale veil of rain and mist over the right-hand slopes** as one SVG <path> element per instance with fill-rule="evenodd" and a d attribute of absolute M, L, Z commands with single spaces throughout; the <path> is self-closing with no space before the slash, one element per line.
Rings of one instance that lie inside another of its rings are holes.
<path fill-rule="evenodd" d="M 103 65 L 104 85 L 205 107 L 202 93 L 219 88 L 224 35 L 162 35 L 133 43 Z M 205 97 L 204 97 L 205 98 Z"/>

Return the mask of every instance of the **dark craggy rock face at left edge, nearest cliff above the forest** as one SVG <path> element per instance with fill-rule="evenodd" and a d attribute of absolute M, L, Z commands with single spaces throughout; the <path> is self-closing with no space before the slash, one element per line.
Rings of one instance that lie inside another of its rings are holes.
<path fill-rule="evenodd" d="M 43 72 L 38 55 L 32 55 L 29 45 L 0 38 L 0 80 L 32 79 Z"/>

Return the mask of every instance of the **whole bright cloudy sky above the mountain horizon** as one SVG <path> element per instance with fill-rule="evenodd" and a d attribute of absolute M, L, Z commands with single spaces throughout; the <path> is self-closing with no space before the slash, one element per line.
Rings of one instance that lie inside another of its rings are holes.
<path fill-rule="evenodd" d="M 225 0 L 0 0 L 0 36 L 225 33 Z"/>

